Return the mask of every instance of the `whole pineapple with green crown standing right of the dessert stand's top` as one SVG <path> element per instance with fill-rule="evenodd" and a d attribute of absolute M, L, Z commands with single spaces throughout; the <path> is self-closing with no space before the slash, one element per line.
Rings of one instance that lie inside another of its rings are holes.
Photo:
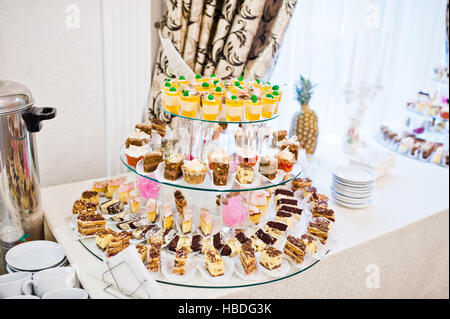
<path fill-rule="evenodd" d="M 317 146 L 317 137 L 319 136 L 316 112 L 309 108 L 309 101 L 315 86 L 309 79 L 305 79 L 301 75 L 300 81 L 296 85 L 297 100 L 302 106 L 302 111 L 295 115 L 293 124 L 300 146 L 305 149 L 307 154 L 314 154 Z"/>

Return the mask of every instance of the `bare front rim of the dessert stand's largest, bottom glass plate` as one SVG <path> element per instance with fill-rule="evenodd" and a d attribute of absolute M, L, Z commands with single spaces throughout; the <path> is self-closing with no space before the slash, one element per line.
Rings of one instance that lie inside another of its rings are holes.
<path fill-rule="evenodd" d="M 103 261 L 102 255 L 100 255 L 100 253 L 93 248 L 93 246 L 95 246 L 95 239 L 93 239 L 93 238 L 80 239 L 79 241 L 80 241 L 81 245 L 87 251 L 89 251 L 95 258 L 97 258 L 100 261 Z M 328 250 L 326 252 L 326 254 L 328 254 L 329 252 L 330 252 L 330 250 Z M 201 265 L 204 264 L 204 256 L 203 255 L 197 255 L 192 258 L 197 258 L 197 264 L 199 262 L 202 263 Z M 285 261 L 288 262 L 287 260 L 285 260 Z M 280 276 L 280 277 L 271 277 L 265 271 L 260 270 L 258 273 L 258 275 L 259 275 L 258 279 L 252 280 L 252 281 L 240 278 L 237 275 L 236 270 L 234 270 L 234 273 L 232 274 L 232 276 L 229 279 L 227 279 L 225 283 L 215 283 L 215 282 L 212 282 L 212 281 L 204 278 L 201 275 L 201 272 L 200 272 L 200 269 L 198 269 L 198 266 L 197 266 L 197 269 L 195 270 L 195 273 L 192 275 L 192 277 L 190 277 L 187 280 L 183 280 L 182 282 L 175 282 L 175 281 L 168 280 L 162 274 L 161 270 L 156 274 L 152 274 L 152 276 L 159 283 L 173 285 L 173 286 L 181 286 L 181 287 L 189 287 L 189 288 L 207 288 L 207 289 L 243 288 L 243 287 L 253 287 L 253 286 L 269 284 L 269 283 L 273 283 L 273 282 L 277 282 L 277 281 L 280 281 L 283 279 L 293 277 L 295 275 L 298 275 L 298 274 L 310 269 L 311 267 L 316 265 L 319 261 L 320 260 L 313 259 L 310 257 L 309 258 L 305 257 L 305 261 L 302 263 L 301 268 L 296 268 L 295 266 L 290 266 L 289 271 L 285 275 Z"/>

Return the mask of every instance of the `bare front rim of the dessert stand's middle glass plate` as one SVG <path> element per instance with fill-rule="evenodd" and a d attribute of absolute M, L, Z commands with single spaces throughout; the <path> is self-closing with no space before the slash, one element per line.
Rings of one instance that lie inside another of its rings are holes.
<path fill-rule="evenodd" d="M 122 161 L 123 165 L 125 165 L 130 171 L 132 171 L 134 174 L 139 175 L 143 178 L 152 180 L 154 182 L 157 182 L 159 184 L 168 185 L 176 188 L 182 188 L 182 189 L 190 189 L 190 190 L 197 190 L 197 191 L 203 191 L 203 192 L 215 192 L 215 193 L 229 193 L 229 192 L 249 192 L 249 191 L 256 191 L 256 190 L 262 190 L 272 187 L 277 187 L 284 185 L 286 183 L 289 183 L 294 178 L 297 178 L 302 173 L 302 166 L 299 162 L 294 164 L 294 167 L 292 171 L 288 174 L 291 174 L 290 178 L 287 180 L 281 180 L 278 183 L 271 183 L 268 180 L 266 180 L 263 176 L 260 176 L 260 183 L 258 183 L 257 186 L 253 187 L 241 187 L 237 182 L 231 183 L 230 187 L 213 187 L 211 184 L 205 181 L 202 184 L 187 184 L 183 181 L 183 178 L 178 179 L 177 181 L 169 181 L 167 179 L 158 179 L 156 175 L 159 175 L 155 172 L 153 173 L 144 173 L 142 170 L 137 169 L 134 166 L 131 166 L 128 164 L 124 149 L 120 151 L 120 160 Z M 138 163 L 137 167 L 140 167 L 140 163 Z M 256 167 L 256 166 L 255 166 Z M 209 172 L 207 173 L 207 175 Z M 207 176 L 208 178 L 208 176 Z M 280 180 L 280 179 L 278 179 Z"/>

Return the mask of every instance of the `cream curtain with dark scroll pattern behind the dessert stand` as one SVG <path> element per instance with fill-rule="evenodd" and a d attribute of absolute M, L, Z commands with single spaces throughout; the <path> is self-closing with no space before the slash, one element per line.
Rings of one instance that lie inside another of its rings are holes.
<path fill-rule="evenodd" d="M 158 27 L 195 73 L 228 79 L 268 77 L 297 0 L 163 0 Z M 159 110 L 168 61 L 159 48 L 148 101 L 149 118 L 170 121 Z"/>

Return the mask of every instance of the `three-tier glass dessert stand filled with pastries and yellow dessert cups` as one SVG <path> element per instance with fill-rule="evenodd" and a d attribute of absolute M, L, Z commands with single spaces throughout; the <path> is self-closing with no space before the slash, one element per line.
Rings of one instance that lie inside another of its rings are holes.
<path fill-rule="evenodd" d="M 274 282 L 327 255 L 336 243 L 328 197 L 305 177 L 296 137 L 267 126 L 279 86 L 180 76 L 161 94 L 173 125 L 135 126 L 120 159 L 136 180 L 83 192 L 74 239 L 103 261 L 135 246 L 157 281 L 199 288 Z"/>

